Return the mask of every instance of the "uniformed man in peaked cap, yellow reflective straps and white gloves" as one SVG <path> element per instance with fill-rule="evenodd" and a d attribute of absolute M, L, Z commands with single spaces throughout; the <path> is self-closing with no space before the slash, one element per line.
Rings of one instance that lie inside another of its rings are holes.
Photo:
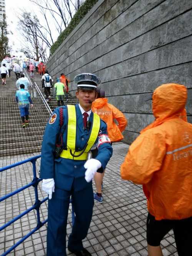
<path fill-rule="evenodd" d="M 43 191 L 49 194 L 48 256 L 66 256 L 70 196 L 76 217 L 68 249 L 77 256 L 91 255 L 83 248 L 82 239 L 88 233 L 93 213 L 92 179 L 96 171 L 103 172 L 113 152 L 106 123 L 91 111 L 101 79 L 83 73 L 75 76 L 74 82 L 78 86 L 76 97 L 79 104 L 56 108 L 46 126 L 42 143 L 40 177 L 43 178 Z M 59 147 L 55 151 L 57 143 L 63 146 L 59 154 Z M 98 155 L 89 159 L 95 144 Z"/>

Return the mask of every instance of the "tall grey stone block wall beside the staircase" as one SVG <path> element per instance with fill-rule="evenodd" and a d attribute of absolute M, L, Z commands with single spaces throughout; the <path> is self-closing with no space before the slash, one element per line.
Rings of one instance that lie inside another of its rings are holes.
<path fill-rule="evenodd" d="M 65 73 L 70 91 L 79 73 L 102 79 L 108 102 L 128 119 L 131 143 L 154 118 L 144 101 L 162 83 L 188 88 L 192 122 L 192 1 L 99 0 L 47 62 L 54 77 Z"/>

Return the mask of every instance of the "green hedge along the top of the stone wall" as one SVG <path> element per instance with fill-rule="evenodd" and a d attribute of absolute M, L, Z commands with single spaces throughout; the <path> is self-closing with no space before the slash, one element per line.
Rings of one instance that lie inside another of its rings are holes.
<path fill-rule="evenodd" d="M 63 43 L 63 41 L 68 37 L 68 35 L 74 30 L 74 28 L 79 24 L 79 22 L 84 18 L 84 16 L 91 10 L 94 4 L 98 0 L 86 0 L 79 8 L 79 10 L 74 14 L 68 27 L 59 35 L 56 42 L 51 46 L 50 52 L 53 54 L 56 49 Z"/>

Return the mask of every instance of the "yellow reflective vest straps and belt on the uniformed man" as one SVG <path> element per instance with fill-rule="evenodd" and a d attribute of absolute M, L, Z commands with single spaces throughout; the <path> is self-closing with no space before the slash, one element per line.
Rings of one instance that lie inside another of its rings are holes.
<path fill-rule="evenodd" d="M 87 142 L 86 149 L 81 156 L 73 157 L 70 153 L 70 149 L 74 154 L 75 141 L 76 141 L 76 110 L 74 105 L 67 105 L 68 107 L 68 134 L 67 134 L 67 150 L 61 152 L 60 157 L 74 160 L 86 160 L 87 154 L 91 150 L 94 142 L 96 141 L 100 129 L 100 118 L 96 113 L 93 113 L 93 125 L 91 128 L 91 134 Z M 74 155 L 79 155 L 81 151 L 76 151 Z"/>

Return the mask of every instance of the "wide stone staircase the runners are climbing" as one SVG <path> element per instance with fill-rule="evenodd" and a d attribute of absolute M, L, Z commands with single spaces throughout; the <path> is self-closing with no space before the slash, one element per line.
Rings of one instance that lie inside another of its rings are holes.
<path fill-rule="evenodd" d="M 15 86 L 16 81 L 14 72 L 11 72 L 11 77 L 7 78 L 6 85 L 2 85 L 2 81 L 0 80 L 0 156 L 40 152 L 45 126 L 50 118 L 50 114 L 46 110 L 38 93 L 36 98 L 33 98 L 31 87 L 29 87 L 29 93 L 34 107 L 29 110 L 29 126 L 25 129 L 22 128 L 20 111 L 15 100 L 15 93 L 17 91 Z M 41 86 L 41 76 L 35 73 L 31 81 L 32 83 L 36 82 L 44 96 L 44 89 Z M 51 94 L 53 97 L 53 89 L 51 90 Z M 70 95 L 68 104 L 76 103 L 78 103 L 78 100 Z M 51 110 L 54 110 L 57 106 L 57 102 L 53 98 L 49 104 Z M 66 104 L 66 99 L 64 104 Z"/>

